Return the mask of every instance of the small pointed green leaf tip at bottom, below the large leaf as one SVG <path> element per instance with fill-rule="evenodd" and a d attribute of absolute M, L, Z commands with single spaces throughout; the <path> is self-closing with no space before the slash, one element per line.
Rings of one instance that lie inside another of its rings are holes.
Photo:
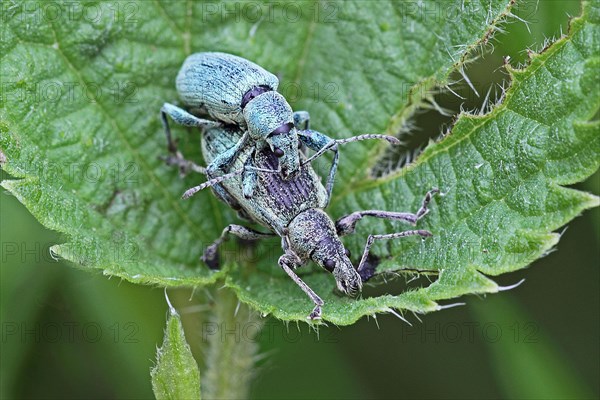
<path fill-rule="evenodd" d="M 150 374 L 157 399 L 200 399 L 200 371 L 185 341 L 181 319 L 172 307 L 165 339 Z"/>

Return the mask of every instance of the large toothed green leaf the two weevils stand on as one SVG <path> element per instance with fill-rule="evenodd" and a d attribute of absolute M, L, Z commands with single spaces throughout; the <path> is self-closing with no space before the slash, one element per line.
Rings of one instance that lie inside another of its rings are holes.
<path fill-rule="evenodd" d="M 57 3 L 58 15 L 43 4 L 39 12 L 34 3 L 3 9 L 0 150 L 3 168 L 20 179 L 2 186 L 65 235 L 54 251 L 81 268 L 164 286 L 224 281 L 242 301 L 285 320 L 304 320 L 311 305 L 278 270 L 278 242 L 259 247 L 257 262 L 230 246 L 227 267 L 210 271 L 199 257 L 235 213 L 209 192 L 180 200 L 203 178 L 177 179 L 158 159 L 166 152 L 158 110 L 176 101 L 185 56 L 219 50 L 258 62 L 280 76 L 294 109 L 307 109 L 312 126 L 332 136 L 395 133 L 509 12 L 506 0 L 128 1 L 94 5 L 90 18 L 79 3 L 71 13 L 72 3 Z M 374 246 L 379 271 L 426 270 L 437 280 L 353 300 L 332 292 L 330 275 L 305 267 L 303 279 L 326 302 L 324 319 L 432 311 L 441 299 L 497 291 L 484 274 L 528 265 L 558 241 L 553 230 L 597 205 L 560 186 L 598 168 L 598 123 L 587 122 L 598 109 L 597 11 L 588 14 L 530 67 L 512 71 L 503 104 L 484 117 L 462 115 L 409 168 L 374 180 L 369 169 L 383 145 L 341 151 L 334 218 L 414 211 L 427 190 L 442 189 L 420 223 L 433 238 Z M 174 133 L 184 154 L 200 160 L 198 134 Z M 398 229 L 405 227 L 362 221 L 344 241 L 358 256 L 368 233 Z"/>

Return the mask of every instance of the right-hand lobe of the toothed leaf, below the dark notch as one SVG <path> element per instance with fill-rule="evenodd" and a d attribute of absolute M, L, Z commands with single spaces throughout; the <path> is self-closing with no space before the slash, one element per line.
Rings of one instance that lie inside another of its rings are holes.
<path fill-rule="evenodd" d="M 592 83 L 599 62 L 598 18 L 589 6 L 586 12 L 573 21 L 569 36 L 534 56 L 528 68 L 510 70 L 513 84 L 488 115 L 462 114 L 452 132 L 414 165 L 361 188 L 337 191 L 331 214 L 341 216 L 372 204 L 415 211 L 428 189 L 440 188 L 443 195 L 420 223 L 433 238 L 390 241 L 375 249 L 382 258 L 380 272 L 433 270 L 438 278 L 396 296 L 354 301 L 328 290 L 326 276 L 306 276 L 324 295 L 325 319 L 348 324 L 392 309 L 434 311 L 442 307 L 438 300 L 502 290 L 486 275 L 523 268 L 545 255 L 559 240 L 553 230 L 598 205 L 597 197 L 560 186 L 585 179 L 600 162 L 599 123 L 588 121 L 600 103 Z M 357 228 L 346 242 L 357 252 L 369 233 L 398 229 L 380 221 Z M 271 278 L 265 285 L 267 279 L 258 274 L 247 276 L 245 286 L 236 284 L 242 280 L 230 274 L 227 282 L 261 311 L 282 319 L 300 319 L 305 312 L 307 302 L 290 295 L 293 284 Z M 256 302 L 263 298 L 270 301 Z"/>

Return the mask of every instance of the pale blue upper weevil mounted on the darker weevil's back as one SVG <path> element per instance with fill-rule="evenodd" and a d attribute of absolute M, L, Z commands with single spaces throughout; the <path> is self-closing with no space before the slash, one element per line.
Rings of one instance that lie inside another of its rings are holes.
<path fill-rule="evenodd" d="M 359 135 L 335 140 L 310 130 L 309 114 L 292 111 L 285 98 L 277 92 L 279 80 L 275 75 L 231 54 L 206 52 L 190 55 L 177 75 L 176 86 L 189 110 L 169 103 L 163 105 L 161 118 L 167 136 L 170 136 L 167 115 L 184 126 L 208 129 L 233 125 L 242 132 L 234 146 L 212 158 L 207 166 L 209 175 L 218 175 L 217 170 L 230 172 L 235 160 L 246 148 L 256 152 L 268 148 L 279 158 L 278 172 L 287 179 L 301 168 L 297 151 L 300 141 L 317 152 L 313 158 L 327 150 L 335 152 L 330 169 L 333 177 L 338 163 L 338 145 L 364 139 L 400 143 L 387 135 Z M 203 115 L 211 119 L 200 118 Z M 174 148 L 170 150 L 175 152 Z M 246 170 L 254 168 L 253 160 L 245 167 Z M 245 180 L 244 186 L 246 196 L 251 197 L 254 185 Z M 330 186 L 327 190 L 331 194 Z"/>

